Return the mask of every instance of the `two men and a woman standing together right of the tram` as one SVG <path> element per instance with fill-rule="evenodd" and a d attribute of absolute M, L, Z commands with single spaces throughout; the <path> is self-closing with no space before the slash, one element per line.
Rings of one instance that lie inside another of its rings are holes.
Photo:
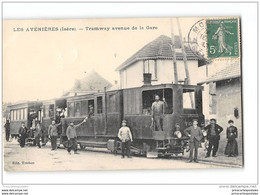
<path fill-rule="evenodd" d="M 227 145 L 225 148 L 225 155 L 228 157 L 235 157 L 238 155 L 238 146 L 236 141 L 238 135 L 237 128 L 234 126 L 233 120 L 229 120 L 228 124 L 229 127 L 227 128 L 226 132 Z M 222 131 L 223 128 L 216 124 L 216 119 L 211 119 L 210 124 L 204 127 L 203 130 L 198 126 L 198 120 L 193 119 L 193 125 L 184 130 L 185 135 L 190 137 L 190 156 L 188 162 L 192 162 L 193 160 L 194 162 L 198 162 L 198 148 L 201 140 L 204 137 L 204 132 L 206 134 L 206 139 L 209 142 L 205 158 L 210 157 L 211 151 L 212 156 L 216 157 L 219 147 L 220 134 Z"/>

